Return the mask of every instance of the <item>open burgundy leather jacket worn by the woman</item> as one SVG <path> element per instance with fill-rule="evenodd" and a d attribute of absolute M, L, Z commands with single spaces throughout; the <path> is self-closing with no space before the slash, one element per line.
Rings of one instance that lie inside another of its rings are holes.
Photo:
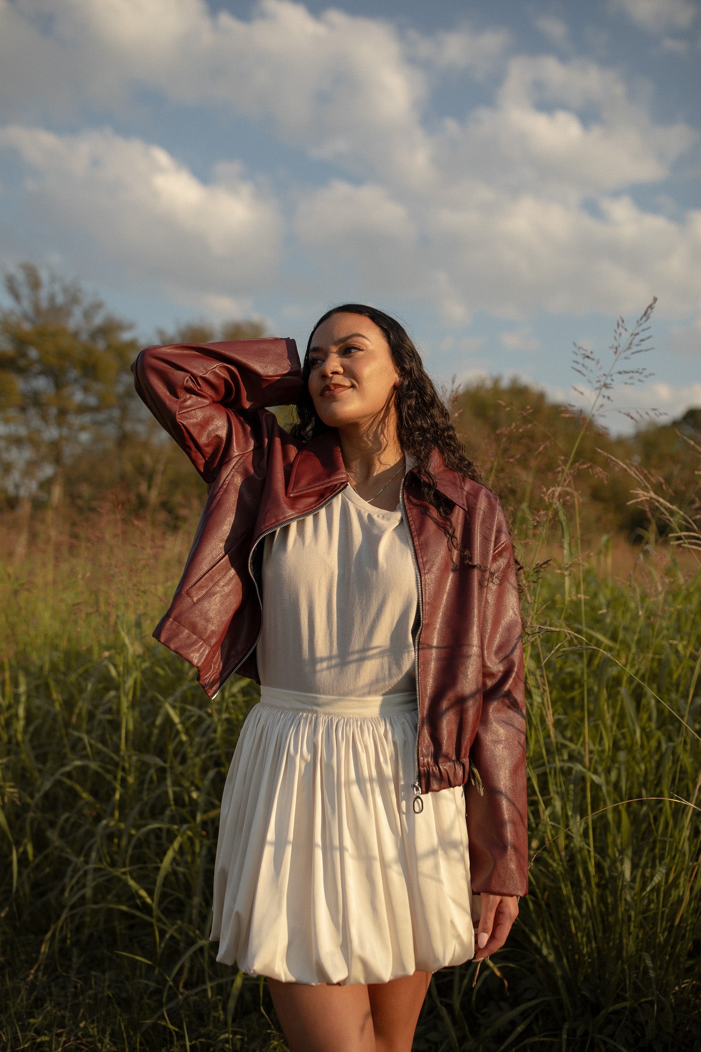
<path fill-rule="evenodd" d="M 337 431 L 303 445 L 265 408 L 296 401 L 293 340 L 147 347 L 131 371 L 140 397 L 210 484 L 153 635 L 198 668 L 213 697 L 233 672 L 257 679 L 261 540 L 348 485 Z M 470 560 L 458 563 L 449 550 L 409 471 L 400 500 L 420 584 L 414 809 L 419 790 L 463 786 L 473 890 L 523 895 L 525 706 L 511 541 L 493 493 L 446 467 L 437 450 L 431 470 L 454 504 Z"/>

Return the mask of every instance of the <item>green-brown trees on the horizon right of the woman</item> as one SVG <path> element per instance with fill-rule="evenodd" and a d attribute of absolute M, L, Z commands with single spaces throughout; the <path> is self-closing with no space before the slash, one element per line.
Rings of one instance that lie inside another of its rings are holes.
<path fill-rule="evenodd" d="M 575 447 L 559 500 L 570 506 L 568 514 L 578 517 L 583 535 L 618 533 L 644 543 L 663 538 L 679 511 L 701 519 L 701 408 L 612 438 L 571 407 L 549 402 L 542 391 L 495 379 L 461 391 L 453 414 L 470 457 L 521 533 L 552 506 L 553 488 Z M 659 500 L 636 500 L 646 490 Z M 660 514 L 663 502 L 671 506 L 668 514 Z"/>

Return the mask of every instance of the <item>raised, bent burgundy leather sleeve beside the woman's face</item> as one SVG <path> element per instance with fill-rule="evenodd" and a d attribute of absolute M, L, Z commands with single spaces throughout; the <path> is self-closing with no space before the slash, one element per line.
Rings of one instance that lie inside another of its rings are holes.
<path fill-rule="evenodd" d="M 295 402 L 294 340 L 146 347 L 131 364 L 137 393 L 205 482 L 255 445 L 255 411 Z"/>

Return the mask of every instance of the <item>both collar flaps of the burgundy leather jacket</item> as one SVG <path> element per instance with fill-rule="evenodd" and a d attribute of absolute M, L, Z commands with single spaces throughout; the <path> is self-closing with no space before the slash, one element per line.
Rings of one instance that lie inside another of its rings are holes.
<path fill-rule="evenodd" d="M 468 494 L 459 471 L 447 467 L 437 449 L 431 452 L 429 467 L 440 492 L 467 511 Z M 415 473 L 415 469 L 410 468 L 408 473 Z M 292 462 L 287 495 L 301 497 L 347 482 L 348 472 L 341 454 L 338 432 L 335 428 L 331 428 L 323 434 L 317 434 L 300 449 Z"/>

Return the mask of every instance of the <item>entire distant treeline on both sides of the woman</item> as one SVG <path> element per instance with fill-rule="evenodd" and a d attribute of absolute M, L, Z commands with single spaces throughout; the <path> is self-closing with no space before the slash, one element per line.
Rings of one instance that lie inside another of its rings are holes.
<path fill-rule="evenodd" d="M 109 501 L 135 515 L 158 513 L 173 526 L 190 519 L 205 487 L 135 393 L 133 325 L 77 283 L 43 275 L 30 263 L 9 274 L 5 288 L 0 509 L 24 520 L 38 508 L 83 515 Z M 201 321 L 159 330 L 153 342 L 263 335 L 256 321 Z M 575 447 L 569 485 L 558 500 L 576 505 L 585 534 L 622 533 L 632 542 L 644 541 L 651 530 L 663 534 L 665 524 L 652 507 L 631 503 L 641 479 L 693 518 L 701 510 L 701 408 L 614 439 L 516 381 L 471 384 L 449 401 L 469 456 L 522 531 L 549 506 Z M 281 419 L 288 419 L 284 411 Z"/>

